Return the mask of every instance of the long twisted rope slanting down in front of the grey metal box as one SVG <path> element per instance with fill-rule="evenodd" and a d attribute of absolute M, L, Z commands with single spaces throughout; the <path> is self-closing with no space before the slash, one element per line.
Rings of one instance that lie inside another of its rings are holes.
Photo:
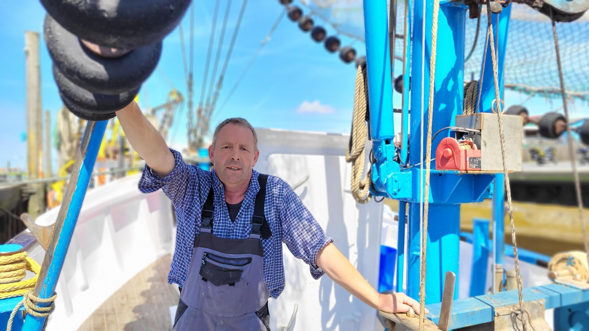
<path fill-rule="evenodd" d="M 501 157 L 503 160 L 503 174 L 505 176 L 505 190 L 507 191 L 507 208 L 509 211 L 509 225 L 511 226 L 511 241 L 514 246 L 514 260 L 515 260 L 515 274 L 517 277 L 517 290 L 518 290 L 518 302 L 519 302 L 519 312 L 524 312 L 524 294 L 522 293 L 522 280 L 519 272 L 519 257 L 517 252 L 517 241 L 515 240 L 515 224 L 514 224 L 514 217 L 513 217 L 513 210 L 511 206 L 511 186 L 509 185 L 509 173 L 507 171 L 507 157 L 505 153 L 505 137 L 503 131 L 503 120 L 502 110 L 501 110 L 501 97 L 499 95 L 499 79 L 497 77 L 497 57 L 495 54 L 495 38 L 492 37 L 493 35 L 493 26 L 491 21 L 491 6 L 489 1 L 487 1 L 487 19 L 488 19 L 488 30 L 487 30 L 487 39 L 490 41 L 491 44 L 491 61 L 493 66 L 493 82 L 495 85 L 495 104 L 497 105 L 497 120 L 499 122 L 499 139 L 501 140 Z M 485 47 L 486 48 L 486 47 Z M 486 52 L 485 52 L 486 57 Z M 493 107 L 491 107 L 493 108 Z M 520 313 L 522 328 L 524 331 L 527 331 L 528 326 L 525 323 L 525 314 Z"/>

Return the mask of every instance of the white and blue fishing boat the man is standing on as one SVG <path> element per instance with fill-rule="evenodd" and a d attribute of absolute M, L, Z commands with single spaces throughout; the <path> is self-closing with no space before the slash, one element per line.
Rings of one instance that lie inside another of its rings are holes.
<path fill-rule="evenodd" d="M 141 176 L 137 170 L 142 164 L 132 151 L 128 155 L 134 174 L 131 171 L 127 176 L 105 180 L 92 173 L 98 170 L 103 176 L 102 168 L 121 168 L 118 162 L 101 160 L 101 153 L 116 150 L 118 137 L 114 132 L 118 129 L 111 118 L 114 111 L 133 100 L 137 84 L 155 68 L 161 39 L 176 27 L 189 1 L 178 0 L 168 21 L 158 22 L 161 26 L 151 35 L 121 35 L 98 23 L 81 24 L 85 22 L 83 15 L 74 19 L 60 10 L 61 4 L 42 3 L 48 11 L 45 38 L 54 59 L 59 92 L 68 110 L 84 120 L 84 133 L 77 140 L 77 156 L 68 164 L 71 174 L 67 187 L 64 183 L 61 204 L 35 219 L 24 214 L 22 220 L 28 230 L 3 246 L 0 257 L 8 260 L 18 256 L 19 263 L 29 265 L 28 277 L 32 270 L 38 279 L 35 283 L 29 281 L 25 292 L 0 299 L 0 320 L 12 323 L 12 330 L 40 330 L 45 324 L 48 330 L 171 330 L 179 297 L 177 287 L 167 284 L 176 234 L 173 206 L 162 191 L 142 194 L 137 190 Z M 378 312 L 328 277 L 312 280 L 305 264 L 286 254 L 286 288 L 278 299 L 269 302 L 270 328 L 588 327 L 587 253 L 557 253 L 540 249 L 542 244 L 529 248 L 534 240 L 548 243 L 554 237 L 585 229 L 577 219 L 566 226 L 561 224 L 559 231 L 551 227 L 550 220 L 542 224 L 542 220 L 530 216 L 517 219 L 515 214 L 521 206 L 511 201 L 518 180 L 525 181 L 526 176 L 534 180 L 538 176 L 554 177 L 555 173 L 570 176 L 562 167 L 524 166 L 522 135 L 537 131 L 546 138 L 566 137 L 573 151 L 573 138 L 588 143 L 587 122 L 571 121 L 567 112 L 568 100 L 584 100 L 586 92 L 581 88 L 565 90 L 562 74 L 560 85 L 551 83 L 558 85 L 556 90 L 522 84 L 514 77 L 521 78 L 517 67 L 525 65 L 510 63 L 506 54 L 515 49 L 509 42 L 519 40 L 508 38 L 508 31 L 521 33 L 520 28 L 530 22 L 548 27 L 552 22 L 555 27 L 558 21 L 564 22 L 558 24 L 559 28 L 570 24 L 577 30 L 587 29 L 584 13 L 589 2 L 302 1 L 306 9 L 289 0 L 281 0 L 280 4 L 284 5 L 281 15 L 297 22 L 314 41 L 323 42 L 329 52 L 337 51 L 343 62 L 356 63 L 354 120 L 350 135 L 257 128 L 260 158 L 255 168 L 283 178 L 293 188 L 327 236 L 373 287 L 382 293 L 405 292 L 418 299 L 429 313 L 415 316 L 411 311 Z M 122 2 L 118 5 L 124 8 Z M 303 10 L 309 15 L 303 15 Z M 343 19 L 352 24 L 337 22 L 342 19 L 337 14 L 341 12 L 346 14 Z M 132 10 L 125 13 L 131 21 L 145 19 L 132 15 Z M 342 47 L 339 37 L 329 37 L 326 28 L 312 18 L 322 19 L 346 38 L 364 42 L 366 57 L 357 57 L 351 46 Z M 92 19 L 100 22 L 100 18 Z M 465 34 L 474 24 L 477 28 Z M 477 43 L 478 38 L 482 39 L 479 31 L 485 31 L 485 27 L 487 40 Z M 275 26 L 270 31 L 273 29 Z M 578 38 L 576 34 L 565 35 L 573 38 L 567 41 Z M 465 36 L 472 38 L 472 48 Z M 556 34 L 554 37 L 557 41 Z M 530 39 L 534 42 L 534 38 L 522 38 Z M 440 41 L 437 49 L 436 41 Z M 73 50 L 63 52 L 59 45 Z M 567 42 L 563 45 L 567 47 Z M 131 49 L 141 49 L 144 58 L 137 55 L 139 51 L 129 52 Z M 555 58 L 551 68 L 558 64 L 562 72 L 562 63 L 571 61 L 568 55 L 564 55 L 564 61 Z M 129 71 L 137 75 L 121 71 L 117 72 L 120 82 L 110 76 L 96 80 L 104 72 L 90 71 L 84 65 L 88 57 L 103 64 L 112 75 L 115 72 L 110 65 L 129 64 L 129 58 L 136 59 L 138 68 L 132 69 L 137 72 Z M 403 72 L 398 78 L 393 76 L 395 66 Z M 479 80 L 462 84 L 465 72 L 478 75 Z M 557 75 L 554 70 L 550 73 Z M 191 84 L 189 80 L 187 154 L 192 153 L 194 163 L 206 168 L 204 155 L 194 154 L 205 144 L 219 89 L 211 94 L 210 102 L 196 107 L 196 118 L 201 121 L 195 121 Z M 393 94 L 393 85 L 398 94 Z M 532 118 L 527 110 L 525 114 L 521 111 L 521 106 L 497 112 L 504 108 L 504 87 L 530 95 L 562 96 L 565 114 L 552 111 Z M 88 91 L 93 97 L 88 97 Z M 171 93 L 163 106 L 167 115 L 154 120 L 154 126 L 160 125 L 160 131 L 167 133 L 173 106 L 181 100 L 178 94 Z M 396 103 L 401 104 L 398 109 L 393 108 Z M 105 147 L 108 141 L 104 141 L 109 122 L 113 132 L 110 151 Z M 401 124 L 395 126 L 395 122 Z M 534 128 L 525 129 L 524 124 Z M 119 154 L 119 161 L 124 154 Z M 571 154 L 572 166 L 576 165 L 575 155 Z M 584 197 L 581 176 L 573 167 L 571 179 L 577 188 L 577 201 Z M 515 178 L 516 185 L 507 184 L 504 190 L 509 178 Z M 387 204 L 379 197 L 386 198 Z M 473 219 L 473 208 L 480 209 L 481 204 L 492 215 Z M 471 213 L 466 216 L 468 210 Z M 578 210 L 582 221 L 581 203 Z M 508 235 L 509 240 L 505 240 L 506 218 L 512 234 L 519 233 L 525 221 L 531 223 L 529 229 L 524 227 L 530 233 L 528 247 L 518 249 L 516 236 Z M 561 245 L 562 250 L 577 249 L 584 241 L 587 244 L 583 236 L 566 241 L 572 244 Z M 28 260 L 21 257 L 24 252 Z M 21 300 L 24 306 L 19 304 Z"/>

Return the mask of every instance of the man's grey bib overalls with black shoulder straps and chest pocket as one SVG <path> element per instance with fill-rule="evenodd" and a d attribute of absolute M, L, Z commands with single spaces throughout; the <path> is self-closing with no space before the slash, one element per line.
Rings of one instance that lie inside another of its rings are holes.
<path fill-rule="evenodd" d="M 200 234 L 188 276 L 180 294 L 174 331 L 269 331 L 270 292 L 264 282 L 260 228 L 268 176 L 260 174 L 252 217 L 252 233 L 246 239 L 214 236 L 213 188 L 201 214 Z"/>

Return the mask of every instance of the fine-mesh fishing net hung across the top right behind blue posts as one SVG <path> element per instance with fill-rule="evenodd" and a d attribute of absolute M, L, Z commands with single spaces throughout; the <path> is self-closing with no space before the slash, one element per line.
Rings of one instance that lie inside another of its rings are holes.
<path fill-rule="evenodd" d="M 326 22 L 333 31 L 353 41 L 364 42 L 362 0 L 301 0 L 311 16 Z M 511 21 L 505 53 L 505 88 L 528 95 L 561 98 L 558 67 L 548 16 L 524 4 L 512 4 Z M 404 1 L 397 3 L 396 34 L 403 34 Z M 468 12 L 466 13 L 468 15 Z M 466 81 L 478 79 L 485 49 L 487 12 L 482 8 L 481 22 L 466 18 L 464 65 Z M 589 102 L 589 12 L 573 22 L 557 22 L 558 42 L 568 98 Z M 396 38 L 395 57 L 403 55 L 403 40 Z"/>

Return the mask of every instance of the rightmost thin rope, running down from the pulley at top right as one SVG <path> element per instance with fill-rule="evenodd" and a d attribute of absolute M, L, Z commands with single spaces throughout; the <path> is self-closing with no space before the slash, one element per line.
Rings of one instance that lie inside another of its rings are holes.
<path fill-rule="evenodd" d="M 556 61 L 558 63 L 558 78 L 560 80 L 560 91 L 562 95 L 562 108 L 564 110 L 564 117 L 567 119 L 567 141 L 568 153 L 571 155 L 571 167 L 573 167 L 573 176 L 575 179 L 575 193 L 577 195 L 577 205 L 579 207 L 579 221 L 581 223 L 581 231 L 583 232 L 583 243 L 585 244 L 585 253 L 587 253 L 587 263 L 589 263 L 589 240 L 587 239 L 587 227 L 585 227 L 585 217 L 583 217 L 583 198 L 581 196 L 581 181 L 579 180 L 579 172 L 577 170 L 577 153 L 575 153 L 573 134 L 571 134 L 571 127 L 568 125 L 568 100 L 565 95 L 564 77 L 562 76 L 562 63 L 560 61 L 560 49 L 558 48 L 558 35 L 556 33 L 556 22 L 552 18 L 552 9 L 550 9 L 550 18 L 552 21 L 552 34 L 554 35 L 554 47 L 556 49 Z"/>

